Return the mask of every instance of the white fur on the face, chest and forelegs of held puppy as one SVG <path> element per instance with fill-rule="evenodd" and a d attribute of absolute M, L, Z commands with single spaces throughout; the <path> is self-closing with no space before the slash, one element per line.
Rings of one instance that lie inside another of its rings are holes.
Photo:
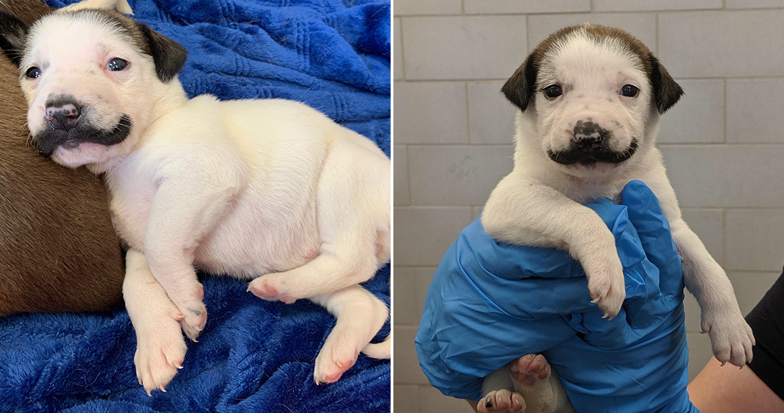
<path fill-rule="evenodd" d="M 550 101 L 540 90 L 553 83 L 564 85 L 564 94 Z M 629 83 L 639 87 L 637 97 L 619 95 Z M 592 297 L 606 315 L 615 316 L 625 298 L 615 239 L 601 218 L 580 203 L 617 200 L 626 183 L 644 181 L 670 221 L 684 262 L 684 283 L 702 309 L 702 329 L 710 334 L 713 353 L 742 366 L 751 360 L 753 334 L 724 270 L 681 217 L 654 148 L 659 112 L 650 103 L 651 93 L 641 62 L 615 40 L 597 44 L 577 31 L 546 53 L 533 102 L 517 113 L 514 170 L 492 192 L 482 224 L 509 243 L 568 249 L 582 263 Z M 564 166 L 551 160 L 546 151 L 564 148 L 572 139 L 568 130 L 587 117 L 613 131 L 609 144 L 615 150 L 626 149 L 636 137 L 637 153 L 620 164 Z"/>

